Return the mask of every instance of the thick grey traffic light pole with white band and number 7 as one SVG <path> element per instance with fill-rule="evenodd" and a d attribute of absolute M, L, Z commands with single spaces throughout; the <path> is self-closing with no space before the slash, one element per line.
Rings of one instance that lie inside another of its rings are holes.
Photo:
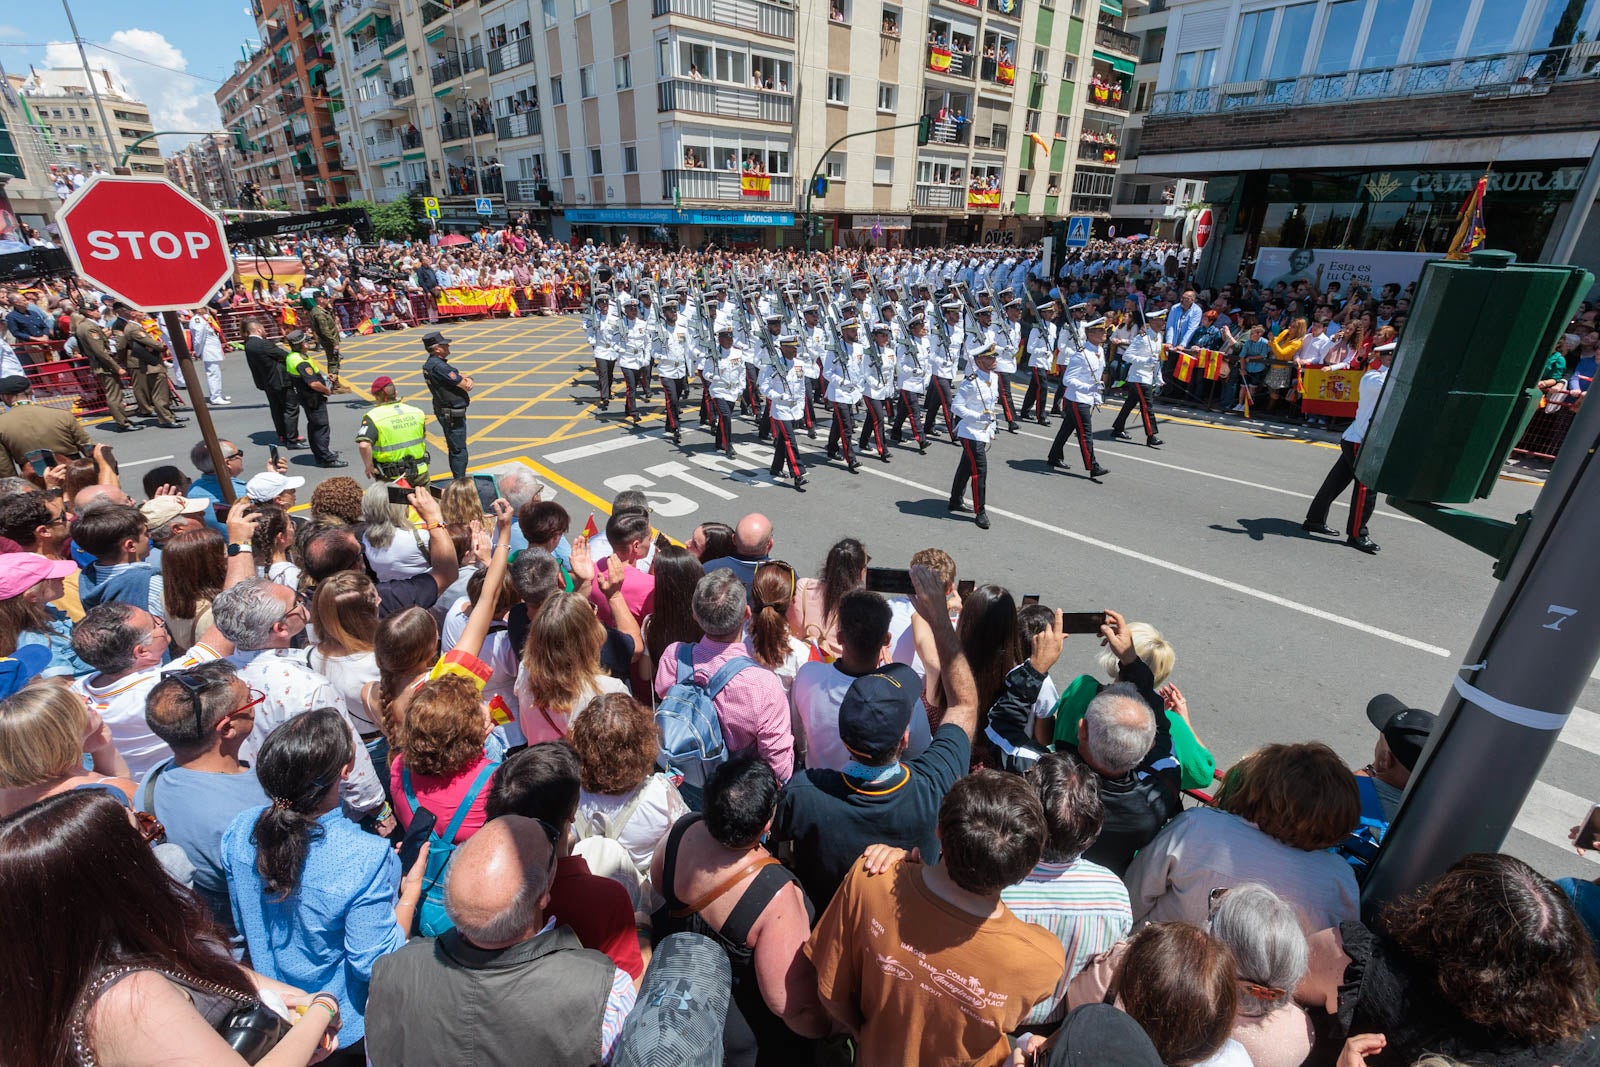
<path fill-rule="evenodd" d="M 1499 851 L 1600 656 L 1600 405 L 1579 410 L 1362 888 L 1371 918 Z M 1578 577 L 1574 577 L 1578 576 Z M 1573 824 L 1582 811 L 1571 813 Z"/>

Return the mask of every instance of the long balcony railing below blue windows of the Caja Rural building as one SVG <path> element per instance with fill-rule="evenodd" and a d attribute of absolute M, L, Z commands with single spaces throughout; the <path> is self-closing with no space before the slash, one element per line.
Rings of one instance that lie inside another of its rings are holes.
<path fill-rule="evenodd" d="M 1168 90 L 1157 93 L 1150 101 L 1150 114 L 1206 115 L 1453 93 L 1469 93 L 1474 99 L 1542 96 L 1560 82 L 1592 78 L 1597 67 L 1600 67 L 1600 43 L 1579 42 L 1538 51 Z"/>

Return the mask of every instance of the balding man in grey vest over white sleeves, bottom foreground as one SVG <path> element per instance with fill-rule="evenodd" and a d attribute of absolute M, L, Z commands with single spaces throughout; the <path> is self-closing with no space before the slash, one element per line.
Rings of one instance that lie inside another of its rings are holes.
<path fill-rule="evenodd" d="M 456 848 L 445 877 L 454 929 L 373 965 L 374 1064 L 608 1064 L 634 981 L 571 926 L 546 918 L 557 848 L 538 821 L 501 816 Z M 459 1025 L 472 1019 L 472 1049 Z"/>

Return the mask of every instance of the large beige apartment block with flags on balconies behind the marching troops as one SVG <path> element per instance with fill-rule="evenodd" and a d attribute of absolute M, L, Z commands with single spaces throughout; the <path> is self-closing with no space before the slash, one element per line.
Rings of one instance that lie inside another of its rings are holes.
<path fill-rule="evenodd" d="M 333 120 L 365 195 L 610 242 L 798 245 L 813 170 L 834 243 L 1029 240 L 1106 214 L 1138 58 L 1118 0 L 330 8 Z M 846 133 L 864 136 L 835 147 Z"/>

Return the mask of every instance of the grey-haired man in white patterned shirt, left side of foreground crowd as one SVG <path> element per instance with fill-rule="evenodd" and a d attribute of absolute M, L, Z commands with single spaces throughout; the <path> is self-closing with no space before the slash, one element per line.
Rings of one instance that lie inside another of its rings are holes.
<path fill-rule="evenodd" d="M 248 577 L 216 595 L 211 617 L 222 637 L 234 643 L 227 662 L 245 685 L 262 696 L 256 707 L 256 728 L 240 744 L 238 758 L 254 763 L 256 752 L 274 729 L 296 715 L 331 707 L 350 728 L 355 745 L 355 766 L 339 784 L 339 798 L 360 816 L 371 814 L 379 833 L 389 833 L 394 816 L 366 745 L 350 723 L 344 696 L 306 665 L 304 649 L 290 648 L 307 621 L 306 605 L 294 590 L 266 577 Z"/>

